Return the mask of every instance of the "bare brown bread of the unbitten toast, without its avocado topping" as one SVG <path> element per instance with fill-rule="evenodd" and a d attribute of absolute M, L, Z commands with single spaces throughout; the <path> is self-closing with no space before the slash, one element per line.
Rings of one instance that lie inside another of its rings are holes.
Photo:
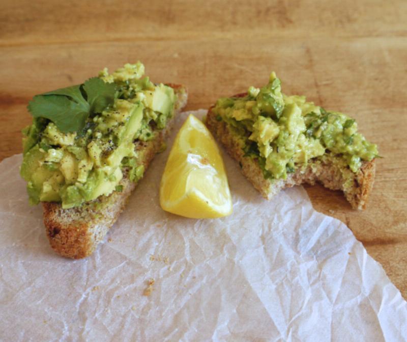
<path fill-rule="evenodd" d="M 168 84 L 177 95 L 175 115 L 179 114 L 187 102 L 187 91 L 180 85 Z M 139 161 L 147 169 L 153 157 L 163 146 L 173 124 L 172 117 L 163 130 L 154 129 L 154 138 L 150 141 L 134 142 Z M 128 198 L 137 183 L 123 172 L 120 185 L 121 192 L 113 191 L 109 196 L 99 196 L 96 200 L 86 202 L 78 207 L 62 208 L 61 203 L 42 202 L 46 234 L 52 249 L 65 257 L 74 259 L 89 256 L 103 240 L 107 231 L 118 219 Z"/>

